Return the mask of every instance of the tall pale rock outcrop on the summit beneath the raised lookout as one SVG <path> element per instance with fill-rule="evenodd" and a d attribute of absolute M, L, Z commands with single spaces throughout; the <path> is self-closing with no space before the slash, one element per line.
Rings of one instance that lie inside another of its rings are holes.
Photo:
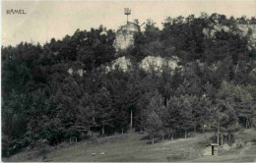
<path fill-rule="evenodd" d="M 124 50 L 129 46 L 133 46 L 134 34 L 138 31 L 140 31 L 140 26 L 131 22 L 120 27 L 116 32 L 116 39 L 114 41 L 116 51 Z"/>

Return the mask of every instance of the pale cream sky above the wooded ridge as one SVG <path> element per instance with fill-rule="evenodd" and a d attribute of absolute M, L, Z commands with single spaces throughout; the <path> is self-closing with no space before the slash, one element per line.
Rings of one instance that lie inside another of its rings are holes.
<path fill-rule="evenodd" d="M 140 24 L 152 19 L 161 22 L 170 16 L 200 16 L 201 12 L 224 14 L 227 17 L 255 17 L 256 1 L 2 1 L 2 45 L 17 45 L 21 41 L 40 44 L 52 37 L 62 39 L 77 28 L 117 29 L 126 24 L 124 8 L 130 8 L 129 21 Z M 7 10 L 21 9 L 25 15 L 10 15 Z"/>

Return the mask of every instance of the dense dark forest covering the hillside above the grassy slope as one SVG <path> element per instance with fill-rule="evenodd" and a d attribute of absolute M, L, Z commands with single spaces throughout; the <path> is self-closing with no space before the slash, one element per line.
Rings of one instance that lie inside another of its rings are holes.
<path fill-rule="evenodd" d="M 138 22 L 138 21 L 137 21 Z M 232 135 L 256 126 L 256 50 L 234 19 L 205 13 L 171 18 L 162 28 L 148 20 L 134 47 L 116 51 L 115 32 L 77 29 L 43 45 L 2 47 L 2 153 L 41 143 L 57 145 L 100 136 L 148 132 L 175 137 L 219 131 Z M 205 28 L 229 27 L 206 37 Z M 117 56 L 138 63 L 145 57 L 178 57 L 179 68 L 147 73 L 139 67 L 105 73 Z M 68 70 L 83 70 L 83 76 Z M 172 73 L 170 73 L 172 72 Z"/>

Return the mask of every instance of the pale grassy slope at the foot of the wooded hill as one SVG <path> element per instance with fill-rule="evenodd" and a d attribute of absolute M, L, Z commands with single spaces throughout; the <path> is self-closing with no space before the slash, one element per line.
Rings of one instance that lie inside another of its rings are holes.
<path fill-rule="evenodd" d="M 151 144 L 146 135 L 126 134 L 109 136 L 111 141 L 87 144 L 79 142 L 74 145 L 57 147 L 47 154 L 47 161 L 74 162 L 163 162 L 163 161 L 193 161 L 193 162 L 253 162 L 256 161 L 255 130 L 245 130 L 237 133 L 248 141 L 243 148 L 231 149 L 221 156 L 203 156 L 206 144 L 212 133 L 197 134 L 195 137 L 160 140 Z M 100 140 L 100 138 L 99 138 Z M 95 153 L 93 155 L 92 153 Z M 101 154 L 100 154 L 101 153 Z M 28 152 L 21 152 L 3 161 L 41 161 L 42 157 L 29 157 Z"/>

